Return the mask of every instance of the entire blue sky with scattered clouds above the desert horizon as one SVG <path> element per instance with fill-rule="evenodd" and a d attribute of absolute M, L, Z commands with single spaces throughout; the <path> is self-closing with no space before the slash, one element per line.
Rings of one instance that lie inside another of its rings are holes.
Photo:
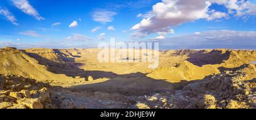
<path fill-rule="evenodd" d="M 0 47 L 256 49 L 256 0 L 1 0 Z"/>

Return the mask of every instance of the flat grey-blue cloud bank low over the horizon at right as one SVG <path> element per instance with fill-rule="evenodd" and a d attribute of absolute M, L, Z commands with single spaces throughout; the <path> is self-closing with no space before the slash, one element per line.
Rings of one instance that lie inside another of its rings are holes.
<path fill-rule="evenodd" d="M 158 40 L 162 49 L 255 49 L 255 31 L 207 31 Z"/>

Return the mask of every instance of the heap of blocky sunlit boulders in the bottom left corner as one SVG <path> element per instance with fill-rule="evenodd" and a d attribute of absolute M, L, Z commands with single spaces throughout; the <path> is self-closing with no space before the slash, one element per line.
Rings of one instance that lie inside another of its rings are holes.
<path fill-rule="evenodd" d="M 0 109 L 75 109 L 72 100 L 47 83 L 22 76 L 0 75 Z M 83 108 L 83 106 L 79 106 Z"/>

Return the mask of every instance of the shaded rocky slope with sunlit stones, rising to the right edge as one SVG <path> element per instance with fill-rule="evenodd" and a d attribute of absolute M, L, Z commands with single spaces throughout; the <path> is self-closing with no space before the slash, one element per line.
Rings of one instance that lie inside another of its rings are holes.
<path fill-rule="evenodd" d="M 237 70 L 210 75 L 174 93 L 145 96 L 139 106 L 142 108 L 255 109 L 256 79 L 245 79 L 247 68 L 256 72 L 255 65 L 243 65 Z"/>

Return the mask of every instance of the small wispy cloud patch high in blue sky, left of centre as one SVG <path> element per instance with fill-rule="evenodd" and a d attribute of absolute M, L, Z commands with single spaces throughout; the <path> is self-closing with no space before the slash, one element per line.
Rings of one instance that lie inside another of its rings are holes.
<path fill-rule="evenodd" d="M 93 12 L 92 19 L 95 22 L 100 23 L 110 23 L 113 21 L 113 16 L 116 15 L 116 12 L 108 11 L 108 10 L 97 10 Z"/>

